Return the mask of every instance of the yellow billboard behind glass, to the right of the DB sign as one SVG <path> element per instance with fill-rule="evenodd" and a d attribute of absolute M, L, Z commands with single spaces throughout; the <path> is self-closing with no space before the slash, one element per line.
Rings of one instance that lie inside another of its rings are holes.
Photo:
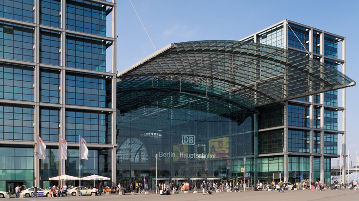
<path fill-rule="evenodd" d="M 209 154 L 212 157 L 215 154 L 215 158 L 227 157 L 229 154 L 229 138 L 216 138 L 209 140 Z"/>

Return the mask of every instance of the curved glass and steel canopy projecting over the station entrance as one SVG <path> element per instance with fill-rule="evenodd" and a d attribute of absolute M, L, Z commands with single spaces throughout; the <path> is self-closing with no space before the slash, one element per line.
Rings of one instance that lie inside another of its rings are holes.
<path fill-rule="evenodd" d="M 132 105 L 153 103 L 142 97 L 151 91 L 158 94 L 156 102 L 169 101 L 164 97 L 177 94 L 214 104 L 228 103 L 231 111 L 233 106 L 253 110 L 256 106 L 356 85 L 345 74 L 307 55 L 232 40 L 169 44 L 117 77 L 118 98 L 136 94 Z"/>

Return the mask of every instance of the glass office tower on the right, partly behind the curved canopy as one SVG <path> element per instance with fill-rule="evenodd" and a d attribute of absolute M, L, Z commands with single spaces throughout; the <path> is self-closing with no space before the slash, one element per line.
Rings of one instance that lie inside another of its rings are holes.
<path fill-rule="evenodd" d="M 296 51 L 335 69 L 341 67 L 341 72 L 345 73 L 345 37 L 317 28 L 283 20 L 241 40 Z M 338 55 L 340 52 L 342 55 Z M 338 98 L 342 99 L 341 105 L 338 105 Z M 328 91 L 289 100 L 277 107 L 276 111 L 285 117 L 284 124 L 270 126 L 265 131 L 260 128 L 259 138 L 266 140 L 268 132 L 282 133 L 282 148 L 280 151 L 259 150 L 259 178 L 264 180 L 272 176 L 274 171 L 261 168 L 261 164 L 267 166 L 275 157 L 284 161 L 284 180 L 330 183 L 331 158 L 339 157 L 340 149 L 345 155 L 345 89 L 341 90 L 341 97 L 338 97 L 338 90 Z M 340 114 L 341 130 L 338 129 Z M 342 145 L 338 145 L 338 137 L 342 138 Z M 284 154 L 277 155 L 278 152 Z"/>

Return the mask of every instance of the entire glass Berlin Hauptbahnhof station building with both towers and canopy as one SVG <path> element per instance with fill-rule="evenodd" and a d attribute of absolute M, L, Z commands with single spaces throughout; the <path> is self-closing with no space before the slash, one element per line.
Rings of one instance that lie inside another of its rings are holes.
<path fill-rule="evenodd" d="M 239 41 L 169 44 L 117 73 L 116 7 L 0 0 L 1 191 L 57 184 L 59 134 L 61 174 L 79 175 L 81 135 L 81 175 L 107 185 L 146 177 L 154 187 L 156 154 L 160 182 L 243 182 L 246 163 L 250 184 L 273 173 L 330 183 L 338 137 L 345 153 L 345 88 L 356 84 L 345 37 L 284 20 Z M 37 133 L 45 160 L 35 160 Z"/>

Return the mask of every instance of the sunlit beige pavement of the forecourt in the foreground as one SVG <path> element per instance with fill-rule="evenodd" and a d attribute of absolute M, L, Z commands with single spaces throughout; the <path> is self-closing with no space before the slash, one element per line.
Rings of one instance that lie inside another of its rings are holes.
<path fill-rule="evenodd" d="M 119 196 L 118 194 L 110 194 L 109 196 L 67 196 L 67 197 L 40 197 L 40 198 L 21 198 L 24 201 L 98 201 L 99 199 L 104 199 L 106 201 L 118 201 L 118 200 L 126 200 L 126 201 L 138 201 L 138 200 L 146 200 L 146 201 L 158 201 L 161 200 L 170 200 L 170 201 L 218 201 L 219 199 L 244 199 L 251 201 L 259 201 L 259 200 L 283 200 L 283 201 L 344 201 L 344 200 L 358 200 L 359 190 L 322 190 L 312 192 L 310 190 L 296 190 L 296 191 L 247 191 L 247 192 L 222 192 L 222 193 L 212 193 L 209 195 L 206 193 L 203 195 L 202 192 L 198 193 L 179 193 L 179 194 L 171 194 L 171 195 L 159 195 L 159 194 L 135 194 L 130 195 L 126 194 L 124 196 Z M 11 197 L 10 199 L 14 199 L 15 197 Z M 3 200 L 1 200 L 3 201 Z"/>

